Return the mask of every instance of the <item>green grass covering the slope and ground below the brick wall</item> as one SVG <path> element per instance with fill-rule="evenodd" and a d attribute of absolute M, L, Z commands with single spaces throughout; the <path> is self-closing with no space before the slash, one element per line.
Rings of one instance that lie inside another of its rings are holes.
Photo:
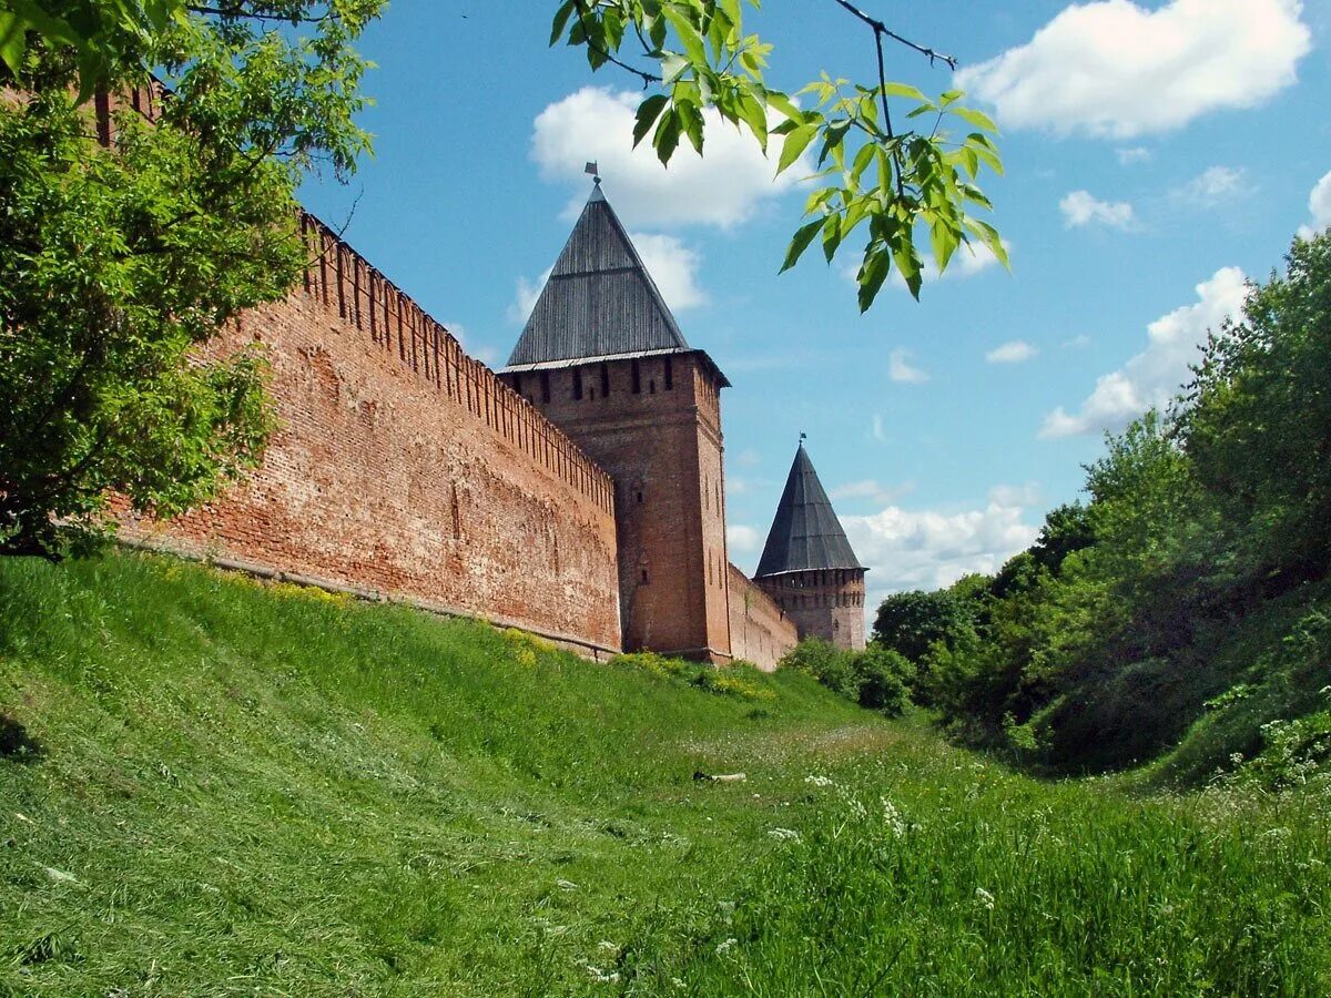
<path fill-rule="evenodd" d="M 1331 989 L 1320 790 L 1037 782 L 736 677 L 0 562 L 0 994 Z"/>

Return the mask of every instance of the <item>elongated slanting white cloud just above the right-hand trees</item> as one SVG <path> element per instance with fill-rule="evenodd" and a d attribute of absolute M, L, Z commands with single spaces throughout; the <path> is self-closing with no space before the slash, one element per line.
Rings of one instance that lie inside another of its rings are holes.
<path fill-rule="evenodd" d="M 1247 298 L 1243 271 L 1222 267 L 1197 286 L 1197 303 L 1174 309 L 1146 327 L 1146 349 L 1119 370 L 1101 375 L 1075 414 L 1062 406 L 1045 416 L 1044 438 L 1118 431 L 1151 406 L 1163 407 L 1189 377 L 1206 330 L 1238 317 Z"/>

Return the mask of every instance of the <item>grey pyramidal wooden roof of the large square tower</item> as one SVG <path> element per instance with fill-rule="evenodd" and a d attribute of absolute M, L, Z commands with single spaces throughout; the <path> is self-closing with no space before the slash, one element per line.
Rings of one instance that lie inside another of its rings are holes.
<path fill-rule="evenodd" d="M 508 367 L 688 350 L 628 233 L 594 188 Z"/>

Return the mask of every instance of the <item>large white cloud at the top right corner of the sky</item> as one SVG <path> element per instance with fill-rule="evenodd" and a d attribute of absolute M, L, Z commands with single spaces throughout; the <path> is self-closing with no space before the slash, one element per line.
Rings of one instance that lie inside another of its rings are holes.
<path fill-rule="evenodd" d="M 1254 108 L 1311 48 L 1300 0 L 1071 4 L 1029 43 L 957 73 L 1005 128 L 1133 138 Z"/>

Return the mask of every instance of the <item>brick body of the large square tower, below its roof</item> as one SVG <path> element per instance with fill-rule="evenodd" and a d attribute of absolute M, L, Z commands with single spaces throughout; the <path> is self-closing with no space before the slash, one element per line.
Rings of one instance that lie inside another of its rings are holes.
<path fill-rule="evenodd" d="M 728 661 L 720 399 L 701 357 L 503 377 L 615 480 L 624 647 Z"/>

